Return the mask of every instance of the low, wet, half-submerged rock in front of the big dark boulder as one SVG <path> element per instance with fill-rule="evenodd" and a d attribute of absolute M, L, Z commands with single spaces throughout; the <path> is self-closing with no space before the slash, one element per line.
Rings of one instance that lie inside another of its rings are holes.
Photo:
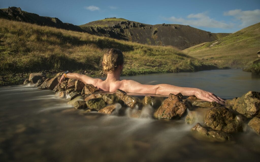
<path fill-rule="evenodd" d="M 193 132 L 193 135 L 195 135 L 197 138 L 206 141 L 225 142 L 225 141 L 231 141 L 233 139 L 231 134 L 228 134 L 226 132 L 216 131 L 216 130 L 207 130 L 207 128 L 201 126 L 199 123 L 197 123 L 191 129 L 191 131 Z"/>

